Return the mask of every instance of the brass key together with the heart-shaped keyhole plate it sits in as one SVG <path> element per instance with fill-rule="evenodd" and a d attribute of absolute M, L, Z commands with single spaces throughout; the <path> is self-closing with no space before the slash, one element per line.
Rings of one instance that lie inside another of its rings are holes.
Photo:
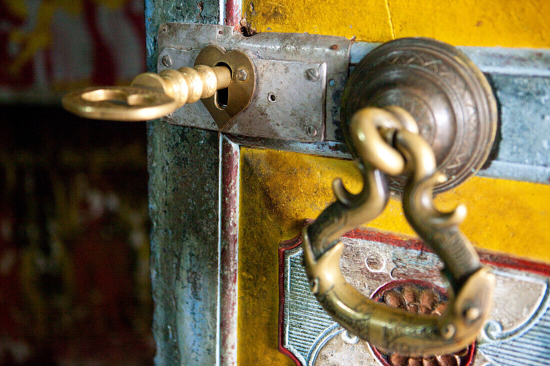
<path fill-rule="evenodd" d="M 80 117 L 104 120 L 146 121 L 199 99 L 220 130 L 250 103 L 254 95 L 255 69 L 250 56 L 234 49 L 208 45 L 193 68 L 144 73 L 130 86 L 77 90 L 63 97 L 63 107 Z"/>

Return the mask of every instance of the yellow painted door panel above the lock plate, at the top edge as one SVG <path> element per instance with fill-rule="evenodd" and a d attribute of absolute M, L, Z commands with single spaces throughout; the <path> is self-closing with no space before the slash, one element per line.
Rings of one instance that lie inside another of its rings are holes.
<path fill-rule="evenodd" d="M 547 0 L 246 0 L 243 18 L 260 32 L 357 41 L 423 36 L 457 46 L 550 46 Z"/>

